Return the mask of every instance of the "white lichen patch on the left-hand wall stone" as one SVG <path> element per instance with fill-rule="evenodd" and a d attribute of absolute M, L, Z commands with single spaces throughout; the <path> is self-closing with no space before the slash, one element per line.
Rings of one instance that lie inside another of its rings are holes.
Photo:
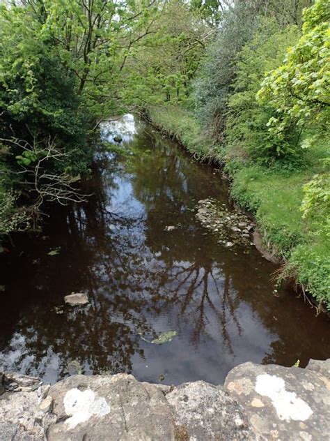
<path fill-rule="evenodd" d="M 110 413 L 110 405 L 105 398 L 97 397 L 91 389 L 79 391 L 76 387 L 70 389 L 63 399 L 65 413 L 70 418 L 65 420 L 70 428 L 88 421 L 93 415 L 103 417 Z"/>

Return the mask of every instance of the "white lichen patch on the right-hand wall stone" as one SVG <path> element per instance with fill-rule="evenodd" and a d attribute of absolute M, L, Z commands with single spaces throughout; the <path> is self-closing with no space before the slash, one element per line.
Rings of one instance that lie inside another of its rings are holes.
<path fill-rule="evenodd" d="M 297 397 L 295 392 L 286 391 L 285 381 L 276 375 L 258 375 L 256 392 L 272 400 L 279 419 L 305 421 L 313 414 L 306 401 Z"/>

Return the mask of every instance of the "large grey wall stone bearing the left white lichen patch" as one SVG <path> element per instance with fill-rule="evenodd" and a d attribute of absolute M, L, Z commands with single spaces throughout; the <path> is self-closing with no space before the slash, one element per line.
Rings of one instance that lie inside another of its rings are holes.
<path fill-rule="evenodd" d="M 49 441 L 175 439 L 162 391 L 132 375 L 75 375 L 52 386 L 49 395 L 56 415 Z"/>

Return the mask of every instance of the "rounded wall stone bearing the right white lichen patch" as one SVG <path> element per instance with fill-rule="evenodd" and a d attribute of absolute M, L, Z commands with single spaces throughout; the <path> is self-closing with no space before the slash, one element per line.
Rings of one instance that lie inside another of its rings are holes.
<path fill-rule="evenodd" d="M 329 441 L 330 382 L 322 373 L 245 363 L 230 371 L 225 389 L 267 439 Z"/>

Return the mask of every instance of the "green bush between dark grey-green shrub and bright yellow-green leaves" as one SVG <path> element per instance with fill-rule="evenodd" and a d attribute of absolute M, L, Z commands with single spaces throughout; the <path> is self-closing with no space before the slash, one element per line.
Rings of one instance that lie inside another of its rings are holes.
<path fill-rule="evenodd" d="M 269 134 L 267 121 L 276 116 L 276 111 L 256 99 L 265 71 L 279 66 L 286 47 L 296 43 L 298 38 L 297 27 L 281 28 L 276 20 L 260 17 L 255 35 L 237 54 L 237 73 L 233 94 L 228 99 L 226 121 L 228 155 L 240 152 L 243 157 L 249 156 L 267 165 L 284 158 L 287 167 L 299 159 L 292 144 L 283 137 Z"/>

